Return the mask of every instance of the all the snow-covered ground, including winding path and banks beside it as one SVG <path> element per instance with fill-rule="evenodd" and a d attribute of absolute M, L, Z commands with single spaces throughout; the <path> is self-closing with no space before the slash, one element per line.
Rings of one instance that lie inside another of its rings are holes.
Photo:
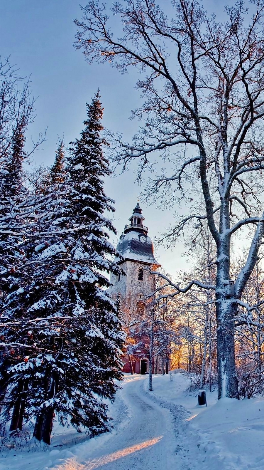
<path fill-rule="evenodd" d="M 32 441 L 19 450 L 1 448 L 0 470 L 262 470 L 264 399 L 217 402 L 198 407 L 185 392 L 182 374 L 124 376 L 123 389 L 110 405 L 113 431 L 87 439 L 54 426 L 49 448 Z"/>

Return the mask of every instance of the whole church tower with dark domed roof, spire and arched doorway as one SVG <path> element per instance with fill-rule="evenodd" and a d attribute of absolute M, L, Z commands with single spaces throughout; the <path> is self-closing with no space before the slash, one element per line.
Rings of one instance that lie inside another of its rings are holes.
<path fill-rule="evenodd" d="M 142 334 L 141 324 L 148 317 L 153 301 L 151 294 L 155 291 L 155 276 L 150 271 L 161 266 L 154 257 L 144 220 L 138 202 L 116 247 L 115 262 L 126 275 L 111 274 L 109 289 L 114 298 L 120 292 L 122 321 L 127 334 L 123 372 L 136 374 L 149 371 L 149 337 Z"/>

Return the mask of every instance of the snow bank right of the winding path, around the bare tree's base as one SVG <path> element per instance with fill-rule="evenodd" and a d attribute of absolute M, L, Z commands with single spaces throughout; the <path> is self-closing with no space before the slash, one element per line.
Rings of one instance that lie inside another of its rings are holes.
<path fill-rule="evenodd" d="M 154 391 L 150 393 L 154 398 L 171 406 L 174 419 L 182 414 L 185 437 L 180 452 L 189 455 L 191 470 L 210 470 L 210 464 L 214 470 L 263 470 L 263 398 L 217 401 L 217 391 L 207 391 L 208 406 L 201 407 L 197 404 L 197 392 L 186 392 L 186 376 L 173 374 L 173 382 L 170 376 L 153 378 Z M 148 387 L 147 382 L 145 386 Z M 199 467 L 201 450 L 206 459 Z"/>

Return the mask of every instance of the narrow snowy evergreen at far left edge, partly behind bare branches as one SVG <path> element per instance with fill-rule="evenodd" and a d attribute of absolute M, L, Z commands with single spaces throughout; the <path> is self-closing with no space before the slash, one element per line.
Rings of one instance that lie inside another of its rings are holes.
<path fill-rule="evenodd" d="M 7 299 L 10 296 L 16 297 L 16 292 L 23 291 L 23 261 L 25 242 L 23 224 L 23 203 L 27 197 L 27 191 L 22 184 L 22 164 L 26 157 L 24 147 L 24 132 L 27 121 L 21 117 L 11 140 L 11 145 L 2 156 L 0 162 L 0 274 L 1 274 L 1 296 L 0 308 L 5 313 L 8 320 L 15 320 L 20 316 L 20 310 L 16 307 L 13 311 L 6 309 Z M 18 228 L 19 227 L 19 228 Z M 17 229 L 18 228 L 18 229 Z M 22 228 L 22 230 L 21 230 Z M 16 331 L 15 325 L 12 328 L 12 337 Z M 8 329 L 2 330 L 2 340 L 8 334 Z M 7 371 L 13 363 L 15 350 L 12 345 L 5 346 L 0 351 L 0 401 L 5 398 L 7 391 Z M 18 426 L 17 409 L 20 409 L 20 399 L 16 400 L 16 392 L 23 391 L 24 384 L 20 382 L 14 388 L 15 401 L 14 412 L 11 420 L 11 430 Z M 15 424 L 16 422 L 16 424 Z"/>

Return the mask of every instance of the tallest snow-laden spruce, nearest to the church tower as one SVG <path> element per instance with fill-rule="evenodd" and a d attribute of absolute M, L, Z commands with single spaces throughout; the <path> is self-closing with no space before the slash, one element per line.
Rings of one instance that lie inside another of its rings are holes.
<path fill-rule="evenodd" d="M 36 417 L 34 435 L 48 444 L 54 413 L 91 434 L 106 431 L 101 398 L 113 400 L 114 379 L 121 380 L 124 334 L 103 274 L 119 268 L 109 260 L 115 250 L 106 232 L 115 229 L 103 215 L 113 208 L 103 191 L 109 168 L 102 112 L 97 93 L 87 105 L 85 129 L 72 143 L 60 196 L 47 203 L 48 229 L 43 236 L 40 224 L 34 236 L 26 313 L 31 326 L 23 330 L 28 354 L 10 369 L 10 384 L 27 378 L 25 413 Z"/>

